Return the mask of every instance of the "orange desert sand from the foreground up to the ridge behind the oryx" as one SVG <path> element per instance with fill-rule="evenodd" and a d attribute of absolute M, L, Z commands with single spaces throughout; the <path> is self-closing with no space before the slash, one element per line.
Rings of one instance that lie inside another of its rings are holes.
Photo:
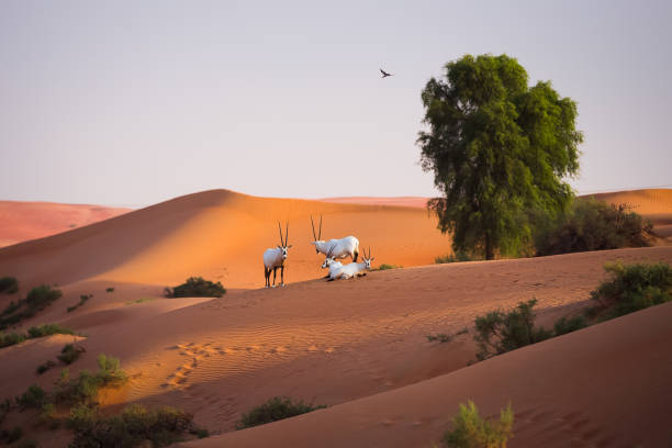
<path fill-rule="evenodd" d="M 664 201 L 651 213 L 669 213 Z M 310 245 L 310 215 L 323 236 L 357 235 L 379 264 L 403 269 L 325 282 Z M 285 288 L 262 289 L 261 253 L 289 220 Z M 404 235 L 400 243 L 399 235 Z M 606 261 L 672 262 L 672 247 L 432 265 L 450 251 L 425 210 L 248 197 L 225 190 L 177 198 L 86 227 L 0 249 L 0 275 L 21 290 L 42 282 L 64 296 L 19 329 L 57 322 L 81 332 L 87 351 L 71 371 L 92 369 L 100 352 L 119 357 L 132 380 L 103 395 L 170 404 L 194 414 L 213 437 L 189 446 L 430 447 L 458 403 L 486 415 L 512 402 L 511 447 L 664 446 L 669 440 L 672 314 L 659 306 L 489 361 L 475 358 L 473 320 L 536 298 L 538 324 L 579 313 L 604 278 Z M 189 276 L 221 280 L 221 299 L 165 299 Z M 113 292 L 105 292 L 107 288 Z M 68 313 L 80 294 L 93 294 Z M 469 328 L 448 344 L 436 333 Z M 0 400 L 59 374 L 34 373 L 72 336 L 0 349 Z M 271 396 L 329 407 L 233 432 L 240 414 Z M 7 425 L 30 426 L 29 414 Z M 67 446 L 67 432 L 35 429 Z"/>

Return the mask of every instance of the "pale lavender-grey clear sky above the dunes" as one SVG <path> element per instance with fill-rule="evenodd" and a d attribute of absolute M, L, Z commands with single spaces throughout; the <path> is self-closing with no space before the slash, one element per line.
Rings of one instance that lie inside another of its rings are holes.
<path fill-rule="evenodd" d="M 654 0 L 0 0 L 0 200 L 436 195 L 421 91 L 503 53 L 576 101 L 576 192 L 672 188 L 671 22 Z"/>

